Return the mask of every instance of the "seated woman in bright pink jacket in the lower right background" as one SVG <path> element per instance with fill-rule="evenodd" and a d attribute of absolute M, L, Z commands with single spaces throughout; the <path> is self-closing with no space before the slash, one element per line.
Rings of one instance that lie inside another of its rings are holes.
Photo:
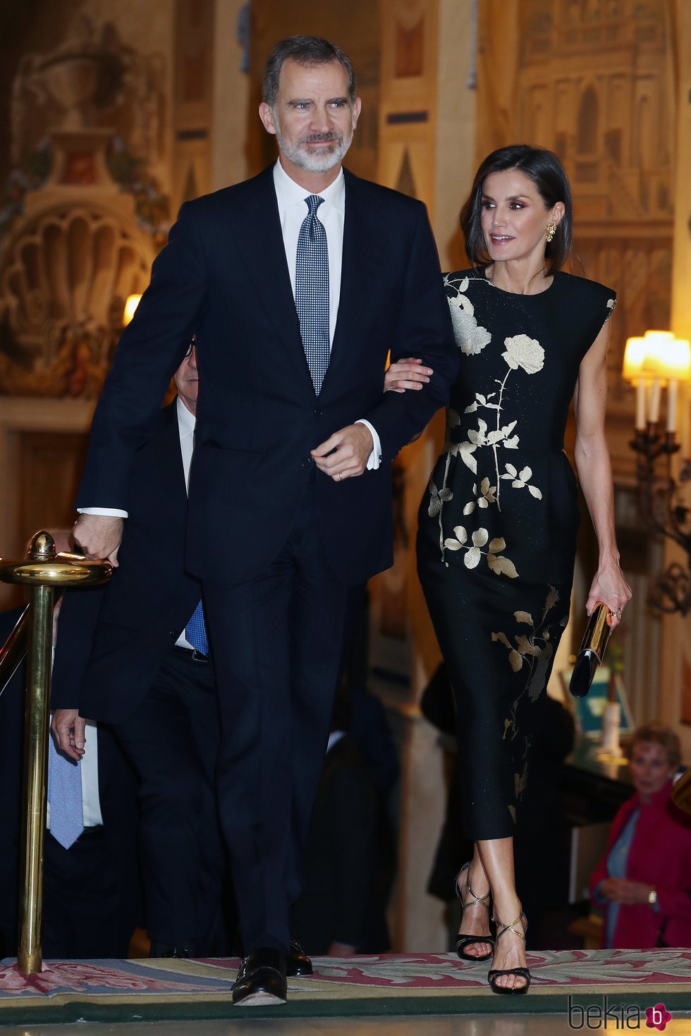
<path fill-rule="evenodd" d="M 603 947 L 691 947 L 691 821 L 669 800 L 681 758 L 676 735 L 639 726 L 629 748 L 636 794 L 612 821 L 607 852 L 591 879 L 605 906 Z"/>

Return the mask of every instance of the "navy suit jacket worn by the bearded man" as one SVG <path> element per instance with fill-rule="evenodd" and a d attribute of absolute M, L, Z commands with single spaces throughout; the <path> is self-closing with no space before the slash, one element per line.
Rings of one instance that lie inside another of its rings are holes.
<path fill-rule="evenodd" d="M 262 571 L 300 506 L 310 450 L 361 418 L 377 430 L 383 463 L 343 483 L 317 472 L 320 531 L 329 565 L 348 585 L 390 566 L 390 464 L 445 404 L 458 358 L 424 205 L 346 173 L 338 323 L 316 397 L 272 168 L 185 203 L 116 350 L 79 507 L 127 507 L 134 453 L 150 435 L 193 332 L 200 392 L 190 570 L 230 582 Z M 433 368 L 422 392 L 383 394 L 390 350 L 394 359 L 420 356 Z"/>

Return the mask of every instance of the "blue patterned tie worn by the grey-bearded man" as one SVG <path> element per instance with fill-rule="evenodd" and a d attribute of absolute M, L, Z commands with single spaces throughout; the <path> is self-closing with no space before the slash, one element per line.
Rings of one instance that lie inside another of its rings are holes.
<path fill-rule="evenodd" d="M 317 395 L 330 355 L 328 247 L 326 231 L 317 219 L 317 209 L 323 200 L 318 195 L 310 195 L 305 199 L 309 212 L 300 227 L 295 259 L 295 308 L 303 348 Z"/>

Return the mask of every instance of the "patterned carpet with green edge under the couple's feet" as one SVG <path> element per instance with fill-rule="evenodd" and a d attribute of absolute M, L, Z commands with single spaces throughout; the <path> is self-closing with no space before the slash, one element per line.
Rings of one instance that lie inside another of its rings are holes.
<path fill-rule="evenodd" d="M 560 1012 L 571 1004 L 691 1010 L 691 950 L 564 950 L 528 954 L 526 997 L 497 997 L 487 963 L 448 953 L 317 957 L 315 974 L 289 982 L 285 1007 L 236 1008 L 230 1000 L 237 961 L 48 961 L 25 978 L 0 963 L 0 1025 L 132 1019 L 377 1016 Z"/>

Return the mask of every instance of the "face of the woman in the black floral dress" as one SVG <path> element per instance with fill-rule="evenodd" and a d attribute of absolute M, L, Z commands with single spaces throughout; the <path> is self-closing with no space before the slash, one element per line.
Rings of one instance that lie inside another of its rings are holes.
<path fill-rule="evenodd" d="M 547 208 L 529 176 L 506 169 L 485 177 L 481 203 L 485 244 L 494 262 L 530 258 L 544 262 L 545 228 L 564 215 L 562 202 Z"/>

